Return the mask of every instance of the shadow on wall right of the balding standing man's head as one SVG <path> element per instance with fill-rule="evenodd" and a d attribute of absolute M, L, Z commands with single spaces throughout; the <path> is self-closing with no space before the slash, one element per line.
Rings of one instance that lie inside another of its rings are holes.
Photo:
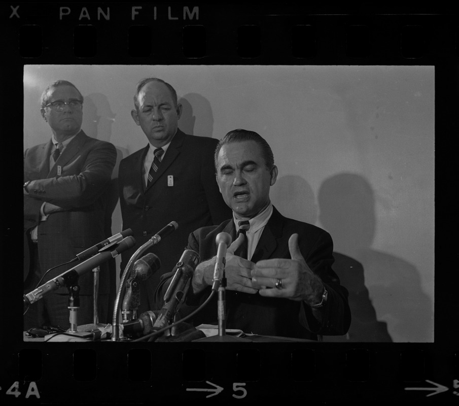
<path fill-rule="evenodd" d="M 214 114 L 209 100 L 197 93 L 188 93 L 179 99 L 182 116 L 179 128 L 186 134 L 199 137 L 212 137 L 214 132 Z M 196 133 L 195 133 L 196 131 Z M 225 134 L 217 137 L 223 138 Z"/>

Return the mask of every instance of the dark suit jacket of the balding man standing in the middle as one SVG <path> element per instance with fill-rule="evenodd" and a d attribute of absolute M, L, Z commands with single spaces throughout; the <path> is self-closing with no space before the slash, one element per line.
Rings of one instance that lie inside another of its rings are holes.
<path fill-rule="evenodd" d="M 231 216 L 215 179 L 217 143 L 215 139 L 190 136 L 178 129 L 148 189 L 143 167 L 149 145 L 120 163 L 118 182 L 123 229 L 131 228 L 136 241 L 132 249 L 122 253 L 121 273 L 135 251 L 162 227 L 171 221 L 179 224 L 171 235 L 142 254 L 155 253 L 161 260 L 161 268 L 140 283 L 137 314 L 156 310 L 154 293 L 160 276 L 170 272 L 179 261 L 188 235 L 199 227 L 220 224 Z M 168 177 L 172 177 L 173 186 L 168 185 L 171 179 Z"/>

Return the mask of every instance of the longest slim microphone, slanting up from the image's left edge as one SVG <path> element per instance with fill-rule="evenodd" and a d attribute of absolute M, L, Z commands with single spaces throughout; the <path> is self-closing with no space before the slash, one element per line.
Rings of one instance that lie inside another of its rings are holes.
<path fill-rule="evenodd" d="M 117 255 L 121 254 L 123 251 L 133 247 L 135 245 L 135 240 L 132 236 L 127 236 L 126 238 L 119 243 L 113 251 L 102 251 L 93 257 L 87 259 L 86 261 L 66 270 L 64 273 L 56 276 L 50 281 L 44 283 L 42 286 L 39 286 L 37 289 L 32 290 L 30 293 L 27 293 L 23 296 L 25 304 L 31 304 L 40 300 L 44 295 L 57 290 L 61 287 L 67 287 L 72 285 L 79 276 L 89 272 L 91 269 L 100 265 L 101 263 L 108 261 L 110 258 L 115 258 Z"/>

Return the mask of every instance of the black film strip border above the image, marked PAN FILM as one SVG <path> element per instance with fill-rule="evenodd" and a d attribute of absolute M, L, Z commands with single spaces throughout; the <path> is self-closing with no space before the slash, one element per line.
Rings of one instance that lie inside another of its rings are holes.
<path fill-rule="evenodd" d="M 24 63 L 433 64 L 457 58 L 457 18 L 398 8 L 3 4 L 4 52 Z M 432 9 L 432 7 L 431 7 Z M 387 10 L 387 11 L 386 11 Z M 397 10 L 394 13 L 393 10 Z"/>

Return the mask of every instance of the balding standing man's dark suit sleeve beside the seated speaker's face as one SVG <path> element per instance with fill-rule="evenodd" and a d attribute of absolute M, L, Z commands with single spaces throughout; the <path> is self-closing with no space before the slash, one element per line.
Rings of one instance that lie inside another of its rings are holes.
<path fill-rule="evenodd" d="M 202 155 L 201 183 L 204 187 L 207 205 L 213 224 L 220 224 L 232 217 L 231 209 L 223 200 L 215 178 L 214 150 L 217 144 L 210 144 Z"/>

